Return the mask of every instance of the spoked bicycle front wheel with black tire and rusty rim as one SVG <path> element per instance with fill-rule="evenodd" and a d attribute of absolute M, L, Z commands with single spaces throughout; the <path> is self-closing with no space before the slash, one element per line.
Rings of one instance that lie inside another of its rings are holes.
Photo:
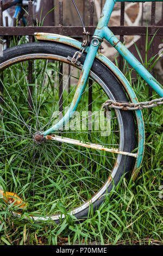
<path fill-rule="evenodd" d="M 79 65 L 68 62 L 76 51 L 37 42 L 9 48 L 1 59 L 1 203 L 10 203 L 17 217 L 56 222 L 67 214 L 86 217 L 131 170 L 133 114 L 101 111 L 107 99 L 128 99 L 116 77 L 97 60 L 73 118 L 52 135 L 66 141 L 37 139 L 71 104 L 85 60 L 83 54 Z"/>

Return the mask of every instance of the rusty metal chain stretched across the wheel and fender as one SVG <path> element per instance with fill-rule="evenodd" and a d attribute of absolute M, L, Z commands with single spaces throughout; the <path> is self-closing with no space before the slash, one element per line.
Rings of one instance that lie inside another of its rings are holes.
<path fill-rule="evenodd" d="M 116 108 L 121 110 L 138 110 L 144 108 L 152 108 L 157 107 L 159 105 L 163 105 L 163 97 L 160 99 L 155 99 L 146 102 L 137 102 L 137 103 L 129 103 L 129 102 L 117 102 L 114 100 L 106 100 L 101 109 L 105 108 Z"/>

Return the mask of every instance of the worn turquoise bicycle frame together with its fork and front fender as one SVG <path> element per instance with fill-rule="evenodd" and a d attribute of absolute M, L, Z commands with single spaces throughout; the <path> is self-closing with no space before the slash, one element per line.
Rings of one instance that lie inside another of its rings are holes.
<path fill-rule="evenodd" d="M 163 97 L 163 89 L 161 88 L 161 85 L 159 84 L 159 82 L 155 80 L 155 78 L 146 70 L 146 68 L 133 56 L 133 54 L 130 53 L 130 51 L 122 44 L 122 42 L 120 42 L 116 38 L 116 36 L 108 28 L 108 22 L 112 13 L 112 9 L 114 8 L 114 5 L 116 2 L 162 2 L 162 1 L 163 0 L 160 0 L 160 1 L 106 0 L 96 31 L 92 36 L 91 45 L 86 49 L 86 53 L 87 53 L 86 59 L 85 59 L 83 69 L 79 78 L 76 92 L 74 93 L 71 106 L 66 112 L 66 114 L 64 115 L 64 117 L 57 124 L 52 126 L 47 131 L 43 132 L 43 136 L 46 137 L 50 133 L 53 133 L 59 130 L 66 123 L 66 121 L 72 118 L 74 111 L 76 111 L 76 108 L 82 96 L 82 93 L 85 89 L 87 78 L 89 76 L 89 72 L 91 70 L 91 67 L 95 58 L 100 59 L 105 65 L 108 65 L 108 67 L 113 72 L 115 72 L 116 76 L 120 78 L 120 81 L 126 88 L 127 93 L 130 97 L 130 100 L 134 103 L 137 102 L 136 95 L 133 89 L 131 88 L 129 82 L 123 76 L 121 71 L 118 70 L 117 67 L 114 64 L 112 64 L 107 58 L 102 56 L 102 54 L 98 53 L 99 45 L 101 44 L 103 39 L 106 39 L 108 42 L 110 42 L 110 44 L 116 48 L 116 50 L 121 54 L 121 56 L 123 56 L 123 58 L 127 60 L 127 62 L 133 67 L 133 69 L 135 69 L 137 73 L 139 73 L 141 77 L 149 84 L 149 86 L 151 86 L 155 90 L 155 92 L 157 92 L 161 97 Z M 74 39 L 68 38 L 66 36 L 60 36 L 55 34 L 45 34 L 45 33 L 36 33 L 35 35 L 38 40 L 59 41 L 64 44 L 72 45 L 76 48 L 81 47 L 80 42 Z M 145 129 L 144 129 L 141 111 L 140 110 L 135 111 L 135 115 L 137 119 L 137 126 L 138 126 L 138 132 L 139 132 L 137 160 L 134 168 L 134 176 L 136 178 L 136 175 L 139 171 L 142 158 L 143 158 L 143 150 L 145 145 Z"/>

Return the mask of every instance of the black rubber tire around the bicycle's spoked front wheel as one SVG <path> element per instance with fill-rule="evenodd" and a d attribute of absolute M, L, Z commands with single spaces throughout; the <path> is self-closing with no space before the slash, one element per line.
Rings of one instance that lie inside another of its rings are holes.
<path fill-rule="evenodd" d="M 8 68 L 11 65 L 11 60 L 15 59 L 15 63 L 17 62 L 16 59 L 23 56 L 29 56 L 30 54 L 54 54 L 55 56 L 60 56 L 66 58 L 68 56 L 73 56 L 73 54 L 76 52 L 76 48 L 59 44 L 57 42 L 34 42 L 31 44 L 24 44 L 24 45 L 18 45 L 12 48 L 9 48 L 4 51 L 4 56 L 1 58 L 0 61 L 0 70 L 4 71 L 6 68 Z M 84 53 L 83 56 L 79 59 L 80 60 L 80 66 L 82 67 L 84 60 L 85 60 L 86 54 Z M 118 79 L 115 77 L 112 72 L 106 68 L 102 63 L 100 63 L 98 60 L 95 60 L 95 62 L 92 65 L 91 69 L 92 74 L 95 75 L 95 77 L 98 78 L 99 82 L 101 81 L 101 84 L 103 84 L 103 87 L 109 92 L 116 101 L 128 101 L 127 94 L 124 92 L 124 89 L 122 88 L 121 84 L 118 82 Z M 130 111 L 119 111 L 122 119 L 123 124 L 123 151 L 131 152 L 135 149 L 135 143 L 136 143 L 136 135 L 135 135 L 135 121 L 133 113 Z M 122 136 L 122 135 L 121 135 Z M 124 175 L 124 173 L 131 172 L 132 166 L 133 166 L 133 157 L 131 156 L 124 156 L 121 155 L 121 161 L 118 163 L 118 166 L 116 167 L 116 171 L 114 175 L 112 176 L 112 180 L 109 181 L 108 186 L 103 194 L 99 198 L 97 198 L 96 202 L 93 203 L 93 212 L 95 212 L 99 206 L 103 203 L 105 199 L 105 194 L 109 193 L 112 189 L 112 187 L 118 184 L 118 182 L 121 179 L 121 176 Z M 115 166 L 114 166 L 115 168 Z M 0 172 L 1 174 L 1 172 Z M 90 204 L 87 204 L 87 206 L 74 214 L 77 219 L 81 219 L 84 217 L 87 217 L 89 214 Z M 40 218 L 36 217 L 34 218 L 35 221 L 43 220 L 48 221 L 49 218 L 51 220 L 54 220 L 55 222 L 59 222 L 61 217 L 53 218 L 46 217 L 46 218 Z"/>

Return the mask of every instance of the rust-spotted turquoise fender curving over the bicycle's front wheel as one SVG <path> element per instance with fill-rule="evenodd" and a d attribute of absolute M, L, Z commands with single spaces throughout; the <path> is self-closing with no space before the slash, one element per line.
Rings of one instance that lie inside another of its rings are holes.
<path fill-rule="evenodd" d="M 70 38 L 68 36 L 64 36 L 64 35 L 49 34 L 49 33 L 35 33 L 35 36 L 38 41 L 60 42 L 61 44 L 67 44 L 77 49 L 80 49 L 80 47 L 82 46 L 82 43 L 79 42 L 78 40 Z M 87 52 L 87 49 L 86 49 L 86 52 Z M 98 59 L 101 63 L 107 66 L 112 71 L 112 73 L 118 78 L 118 80 L 121 82 L 122 86 L 126 90 L 130 101 L 133 103 L 137 103 L 138 101 L 137 101 L 135 92 L 131 87 L 130 83 L 128 82 L 127 78 L 120 71 L 120 69 L 118 69 L 117 66 L 114 63 L 112 63 L 108 58 L 106 58 L 102 53 L 97 52 L 96 59 Z M 135 115 L 137 120 L 138 145 L 137 145 L 136 162 L 135 162 L 134 170 L 132 173 L 132 178 L 134 181 L 141 168 L 141 163 L 143 160 L 143 154 L 144 154 L 144 148 L 145 148 L 145 125 L 143 121 L 142 111 L 136 110 Z"/>

